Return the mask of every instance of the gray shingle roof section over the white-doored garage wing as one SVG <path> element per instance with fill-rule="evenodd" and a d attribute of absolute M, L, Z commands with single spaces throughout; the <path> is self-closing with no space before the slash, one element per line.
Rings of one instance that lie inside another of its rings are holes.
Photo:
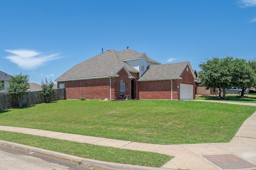
<path fill-rule="evenodd" d="M 146 70 L 146 72 L 138 79 L 138 81 L 179 78 L 188 64 L 190 65 L 190 63 L 186 61 L 181 63 L 151 65 L 149 66 L 148 70 Z"/>

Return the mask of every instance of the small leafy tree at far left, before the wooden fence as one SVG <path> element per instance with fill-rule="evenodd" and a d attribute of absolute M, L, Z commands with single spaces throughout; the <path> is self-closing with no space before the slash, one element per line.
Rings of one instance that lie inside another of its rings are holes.
<path fill-rule="evenodd" d="M 9 81 L 10 86 L 7 88 L 7 91 L 16 96 L 20 107 L 22 107 L 21 101 L 23 95 L 28 94 L 28 89 L 30 88 L 28 81 L 29 76 L 22 75 L 22 73 L 12 76 Z"/>

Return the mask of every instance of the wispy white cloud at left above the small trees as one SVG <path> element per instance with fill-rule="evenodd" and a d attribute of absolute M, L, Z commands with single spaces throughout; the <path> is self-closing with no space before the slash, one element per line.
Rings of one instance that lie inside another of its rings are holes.
<path fill-rule="evenodd" d="M 52 60 L 59 59 L 59 54 L 44 55 L 37 51 L 27 50 L 27 49 L 17 49 L 17 50 L 4 50 L 10 55 L 5 58 L 10 62 L 17 64 L 20 68 L 24 70 L 34 70 L 44 63 Z"/>

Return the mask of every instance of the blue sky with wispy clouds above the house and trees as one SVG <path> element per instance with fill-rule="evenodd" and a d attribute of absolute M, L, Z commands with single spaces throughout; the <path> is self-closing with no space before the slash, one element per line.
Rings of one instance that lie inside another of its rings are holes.
<path fill-rule="evenodd" d="M 108 49 L 162 64 L 256 58 L 256 0 L 0 0 L 0 70 L 54 80 Z"/>

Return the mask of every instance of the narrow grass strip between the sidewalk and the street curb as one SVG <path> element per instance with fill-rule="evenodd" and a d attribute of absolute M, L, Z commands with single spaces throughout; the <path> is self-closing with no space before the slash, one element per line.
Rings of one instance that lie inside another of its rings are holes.
<path fill-rule="evenodd" d="M 102 147 L 86 143 L 71 142 L 7 131 L 0 131 L 0 136 L 0 138 L 4 141 L 11 141 L 32 147 L 62 152 L 82 158 L 90 158 L 121 164 L 161 167 L 173 158 L 173 156 L 154 152 Z"/>

